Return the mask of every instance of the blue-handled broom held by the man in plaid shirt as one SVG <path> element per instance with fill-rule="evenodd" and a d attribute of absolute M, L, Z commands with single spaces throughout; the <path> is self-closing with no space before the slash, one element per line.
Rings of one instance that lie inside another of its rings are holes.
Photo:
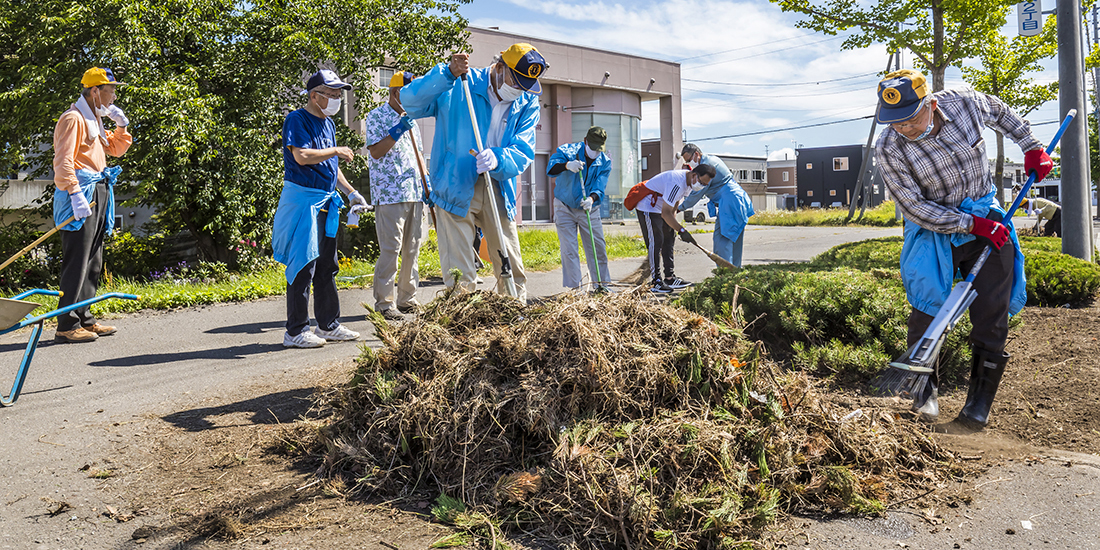
<path fill-rule="evenodd" d="M 1058 132 L 1054 134 L 1054 140 L 1050 140 L 1050 144 L 1046 146 L 1047 154 L 1054 152 L 1054 147 L 1062 140 L 1062 134 L 1066 132 L 1066 129 L 1069 128 L 1069 123 L 1072 122 L 1076 116 L 1077 109 L 1070 109 L 1066 113 L 1062 125 L 1058 127 Z M 1035 173 L 1032 172 L 1027 176 L 1027 183 L 1024 184 L 1023 189 L 1020 190 L 1015 200 L 1012 201 L 1012 206 L 1009 207 L 1008 213 L 1004 216 L 1005 220 L 1011 222 L 1012 215 L 1020 208 L 1020 202 L 1027 196 L 1027 191 L 1031 190 L 1034 183 Z M 911 397 L 920 395 L 924 391 L 928 384 L 928 376 L 935 372 L 936 358 L 939 356 L 939 349 L 944 345 L 947 333 L 955 328 L 959 319 L 963 318 L 963 314 L 967 311 L 970 304 L 978 297 L 978 292 L 974 289 L 974 278 L 981 271 L 981 267 L 986 265 L 986 261 L 989 260 L 991 252 L 992 249 L 987 245 L 986 250 L 981 252 L 981 255 L 974 263 L 970 273 L 952 289 L 952 294 L 947 296 L 944 305 L 939 307 L 939 311 L 936 312 L 936 317 L 932 320 L 928 329 L 924 331 L 921 340 L 913 344 L 902 356 L 891 361 L 886 372 L 871 382 L 871 392 L 873 394 Z"/>

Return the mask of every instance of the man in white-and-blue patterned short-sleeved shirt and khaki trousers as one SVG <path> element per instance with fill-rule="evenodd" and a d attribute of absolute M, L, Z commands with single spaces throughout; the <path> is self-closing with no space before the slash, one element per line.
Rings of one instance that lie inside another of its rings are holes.
<path fill-rule="evenodd" d="M 388 320 L 419 311 L 420 286 L 417 256 L 424 237 L 424 184 L 417 172 L 420 128 L 402 107 L 402 87 L 411 73 L 395 73 L 389 80 L 389 100 L 366 113 L 365 138 L 370 151 L 371 201 L 378 234 L 378 260 L 374 264 L 374 309 Z M 416 145 L 407 135 L 413 132 Z M 400 258 L 398 273 L 397 260 Z M 396 307 L 394 278 L 397 279 Z"/>

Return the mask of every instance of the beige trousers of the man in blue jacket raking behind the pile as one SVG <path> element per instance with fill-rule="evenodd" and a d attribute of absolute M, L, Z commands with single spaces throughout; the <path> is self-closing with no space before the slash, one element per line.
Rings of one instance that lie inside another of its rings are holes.
<path fill-rule="evenodd" d="M 499 183 L 493 184 L 494 187 Z M 496 292 L 507 294 L 504 282 L 501 279 L 501 250 L 503 241 L 508 251 L 508 262 L 512 265 L 512 278 L 516 284 L 518 298 L 527 302 L 527 274 L 524 272 L 524 258 L 519 252 L 519 234 L 516 222 L 508 219 L 508 212 L 504 209 L 504 199 L 501 195 L 494 194 L 496 200 L 496 211 L 501 218 L 501 234 L 496 232 L 496 223 L 491 217 L 492 210 L 488 205 L 488 191 L 485 186 L 485 178 L 477 178 L 474 185 L 474 196 L 470 201 L 470 211 L 465 218 L 454 216 L 442 208 L 436 209 L 436 237 L 439 239 L 439 264 L 443 270 L 443 284 L 452 286 L 458 284 L 459 288 L 472 292 L 477 288 L 477 268 L 474 266 L 474 228 L 481 228 L 485 235 L 485 244 L 488 246 L 490 261 L 493 263 L 493 274 L 496 276 Z M 451 276 L 451 270 L 459 270 L 461 275 L 458 280 Z"/>

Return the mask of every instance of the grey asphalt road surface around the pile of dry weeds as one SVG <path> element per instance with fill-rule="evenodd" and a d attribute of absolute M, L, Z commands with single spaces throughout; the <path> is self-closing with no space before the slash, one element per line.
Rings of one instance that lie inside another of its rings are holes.
<path fill-rule="evenodd" d="M 623 230 L 629 231 L 630 227 L 624 226 Z M 900 229 L 749 227 L 745 257 L 747 263 L 799 262 L 843 242 L 900 232 Z M 710 245 L 708 234 L 696 237 L 701 244 Z M 612 262 L 612 276 L 618 279 L 638 265 L 639 260 Z M 713 268 L 705 255 L 679 242 L 676 266 L 678 275 L 690 280 L 706 277 Z M 486 280 L 486 286 L 492 283 L 492 279 Z M 438 284 L 425 285 L 420 289 L 421 299 L 427 301 L 441 288 Z M 562 290 L 560 271 L 529 276 L 531 297 Z M 363 333 L 363 343 L 378 345 L 359 306 L 363 301 L 373 301 L 370 289 L 341 292 L 342 321 Z M 117 334 L 90 344 L 53 344 L 50 341 L 53 330 L 47 330 L 22 396 L 13 407 L 0 409 L 3 441 L 0 450 L 3 485 L 0 488 L 0 548 L 121 548 L 129 544 L 132 526 L 113 527 L 99 521 L 101 517 L 97 519 L 91 510 L 102 510 L 111 503 L 105 502 L 108 496 L 97 492 L 94 480 L 79 471 L 89 457 L 101 457 L 108 443 L 117 443 L 109 441 L 108 427 L 113 422 L 219 405 L 228 393 L 241 387 L 254 386 L 257 395 L 263 395 L 265 384 L 275 380 L 301 376 L 304 372 L 324 365 L 351 365 L 358 354 L 352 343 L 315 350 L 284 349 L 285 315 L 285 300 L 279 297 L 129 315 L 110 320 L 119 327 Z M 26 338 L 25 331 L 0 337 L 0 385 L 4 393 L 14 377 Z M 1067 514 L 1047 514 L 1040 525 L 1060 529 L 1063 534 L 1081 534 L 1093 527 L 1082 518 L 1098 517 L 1098 497 L 1070 499 L 1049 491 L 1052 476 L 1072 472 L 1077 493 L 1100 493 L 1100 470 L 1089 466 L 1088 460 L 1079 464 L 1067 469 L 1050 462 L 1023 470 L 1019 476 L 1021 487 L 998 492 L 997 504 L 986 508 L 987 514 L 1008 514 L 1015 524 L 1019 521 L 1016 516 L 1024 514 L 1022 507 L 1048 502 L 1049 508 L 1058 507 Z M 43 498 L 65 501 L 74 509 L 57 517 L 48 516 L 44 513 Z M 912 521 L 916 527 L 911 531 L 916 532 L 920 521 Z M 1059 526 L 1059 521 L 1064 525 Z M 900 539 L 899 534 L 908 532 L 886 531 L 890 536 L 882 538 L 881 532 L 873 535 L 843 524 L 822 525 L 827 528 L 823 528 L 825 531 L 821 536 L 807 535 L 807 542 L 816 540 L 824 544 L 822 548 L 886 548 L 898 540 L 893 535 Z M 996 524 L 993 530 L 1000 529 L 1003 534 L 1001 525 L 1004 521 Z M 987 527 L 972 525 L 971 529 L 978 531 L 974 537 L 988 530 Z M 1093 528 L 1076 538 L 1059 536 L 1053 547 L 1100 548 L 1096 532 Z M 831 540 L 838 546 L 829 546 Z M 1023 540 L 1036 542 L 1028 537 L 1008 542 L 998 539 L 994 548 L 1024 548 L 1009 543 Z M 961 548 L 977 546 L 969 541 L 963 544 Z"/>

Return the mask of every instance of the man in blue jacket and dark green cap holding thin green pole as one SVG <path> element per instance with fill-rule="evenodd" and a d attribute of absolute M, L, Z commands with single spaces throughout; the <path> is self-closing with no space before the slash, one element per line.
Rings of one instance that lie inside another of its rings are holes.
<path fill-rule="evenodd" d="M 558 228 L 561 248 L 561 284 L 566 288 L 581 286 L 578 230 L 588 263 L 588 280 L 595 285 L 596 292 L 606 290 L 605 285 L 610 280 L 607 274 L 604 227 L 600 217 L 600 205 L 604 202 L 607 177 L 612 173 L 612 160 L 603 153 L 607 131 L 592 127 L 584 141 L 558 147 L 547 163 L 547 175 L 556 178 L 553 223 Z"/>

